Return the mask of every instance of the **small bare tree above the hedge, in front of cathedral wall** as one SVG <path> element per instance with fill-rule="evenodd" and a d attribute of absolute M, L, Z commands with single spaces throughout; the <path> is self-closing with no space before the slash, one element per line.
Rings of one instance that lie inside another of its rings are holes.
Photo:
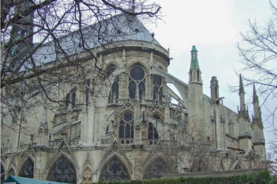
<path fill-rule="evenodd" d="M 159 140 L 152 145 L 150 155 L 161 155 L 166 163 L 167 171 L 164 168 L 157 169 L 149 176 L 163 176 L 168 172 L 202 172 L 213 170 L 217 161 L 213 151 L 215 150 L 213 140 L 204 140 L 199 132 L 199 121 L 188 124 L 183 118 L 179 125 L 174 125 L 168 132 L 160 132 Z M 157 164 L 157 167 L 165 166 Z M 165 172 L 165 173 L 159 173 Z"/>

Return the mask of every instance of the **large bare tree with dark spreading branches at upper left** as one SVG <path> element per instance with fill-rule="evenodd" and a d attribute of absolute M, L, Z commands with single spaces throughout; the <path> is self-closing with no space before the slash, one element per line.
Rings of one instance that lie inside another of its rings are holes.
<path fill-rule="evenodd" d="M 93 95 L 106 77 L 96 48 L 136 32 L 138 19 L 154 23 L 160 10 L 147 0 L 1 1 L 2 118 L 73 103 L 66 95 L 76 90 Z"/>

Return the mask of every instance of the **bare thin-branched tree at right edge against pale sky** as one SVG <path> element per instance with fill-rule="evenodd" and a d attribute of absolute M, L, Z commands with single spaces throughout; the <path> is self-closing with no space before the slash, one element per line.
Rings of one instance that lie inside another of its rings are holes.
<path fill-rule="evenodd" d="M 242 42 L 238 44 L 240 62 L 243 65 L 243 80 L 246 85 L 256 85 L 261 104 L 267 111 L 267 119 L 276 134 L 277 112 L 277 7 L 269 1 L 273 12 L 265 26 L 249 20 L 249 31 L 242 33 Z M 264 114 L 265 116 L 265 114 Z M 276 139 L 270 142 L 271 156 L 276 156 Z M 271 158 L 272 159 L 272 158 Z M 275 160 L 276 165 L 276 157 Z"/>

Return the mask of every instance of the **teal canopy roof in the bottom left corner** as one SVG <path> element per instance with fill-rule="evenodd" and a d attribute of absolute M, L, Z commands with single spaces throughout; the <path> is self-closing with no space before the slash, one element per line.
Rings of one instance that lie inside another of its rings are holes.
<path fill-rule="evenodd" d="M 57 182 L 57 181 L 46 181 L 46 180 L 25 178 L 21 176 L 13 176 L 13 175 L 8 176 L 6 181 L 4 181 L 4 183 L 9 183 L 9 182 L 15 182 L 17 184 L 27 184 L 27 183 L 28 184 L 62 184 L 62 182 Z M 66 183 L 63 183 L 63 184 L 66 184 Z"/>

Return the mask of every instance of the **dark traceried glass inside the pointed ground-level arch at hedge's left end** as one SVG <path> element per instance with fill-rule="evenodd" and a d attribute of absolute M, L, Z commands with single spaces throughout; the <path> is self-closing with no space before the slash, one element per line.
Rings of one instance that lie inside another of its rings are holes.
<path fill-rule="evenodd" d="M 100 174 L 100 181 L 129 180 L 125 165 L 117 158 L 111 159 Z"/>

